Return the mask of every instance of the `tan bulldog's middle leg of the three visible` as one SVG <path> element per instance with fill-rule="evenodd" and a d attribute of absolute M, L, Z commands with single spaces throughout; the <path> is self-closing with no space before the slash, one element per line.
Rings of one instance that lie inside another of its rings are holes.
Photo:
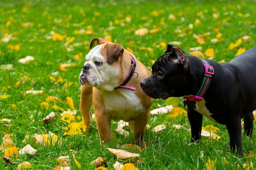
<path fill-rule="evenodd" d="M 94 108 L 94 113 L 102 143 L 106 144 L 113 141 L 113 135 L 111 133 L 111 117 L 104 113 L 99 107 Z"/>

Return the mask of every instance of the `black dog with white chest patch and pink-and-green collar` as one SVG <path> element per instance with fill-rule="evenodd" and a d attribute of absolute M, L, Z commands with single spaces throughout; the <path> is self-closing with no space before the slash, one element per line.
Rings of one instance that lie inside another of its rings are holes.
<path fill-rule="evenodd" d="M 231 152 L 243 155 L 241 119 L 245 134 L 252 137 L 256 109 L 256 48 L 229 63 L 217 63 L 186 55 L 169 44 L 141 88 L 156 99 L 184 96 L 192 142 L 200 139 L 204 115 L 226 125 Z"/>

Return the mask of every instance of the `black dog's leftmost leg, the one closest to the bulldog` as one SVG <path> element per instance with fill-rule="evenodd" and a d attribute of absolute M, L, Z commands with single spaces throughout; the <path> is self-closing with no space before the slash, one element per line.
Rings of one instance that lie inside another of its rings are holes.
<path fill-rule="evenodd" d="M 191 125 L 191 142 L 201 139 L 203 115 L 188 106 L 188 118 Z"/>

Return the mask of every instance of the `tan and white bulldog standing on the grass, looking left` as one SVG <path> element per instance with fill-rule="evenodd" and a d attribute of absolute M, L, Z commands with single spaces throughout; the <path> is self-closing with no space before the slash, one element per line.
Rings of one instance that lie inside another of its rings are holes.
<path fill-rule="evenodd" d="M 79 76 L 80 111 L 87 126 L 95 119 L 103 143 L 112 141 L 111 119 L 130 121 L 136 144 L 144 143 L 144 133 L 153 99 L 143 93 L 140 81 L 150 75 L 148 69 L 122 45 L 93 38 Z"/>

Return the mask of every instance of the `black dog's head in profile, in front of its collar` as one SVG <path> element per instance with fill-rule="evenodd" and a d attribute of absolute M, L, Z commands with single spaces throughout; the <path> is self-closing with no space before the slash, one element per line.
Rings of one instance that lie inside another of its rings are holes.
<path fill-rule="evenodd" d="M 153 64 L 150 77 L 141 81 L 144 93 L 155 99 L 183 96 L 189 68 L 185 55 L 179 48 L 168 45 L 164 55 Z"/>

